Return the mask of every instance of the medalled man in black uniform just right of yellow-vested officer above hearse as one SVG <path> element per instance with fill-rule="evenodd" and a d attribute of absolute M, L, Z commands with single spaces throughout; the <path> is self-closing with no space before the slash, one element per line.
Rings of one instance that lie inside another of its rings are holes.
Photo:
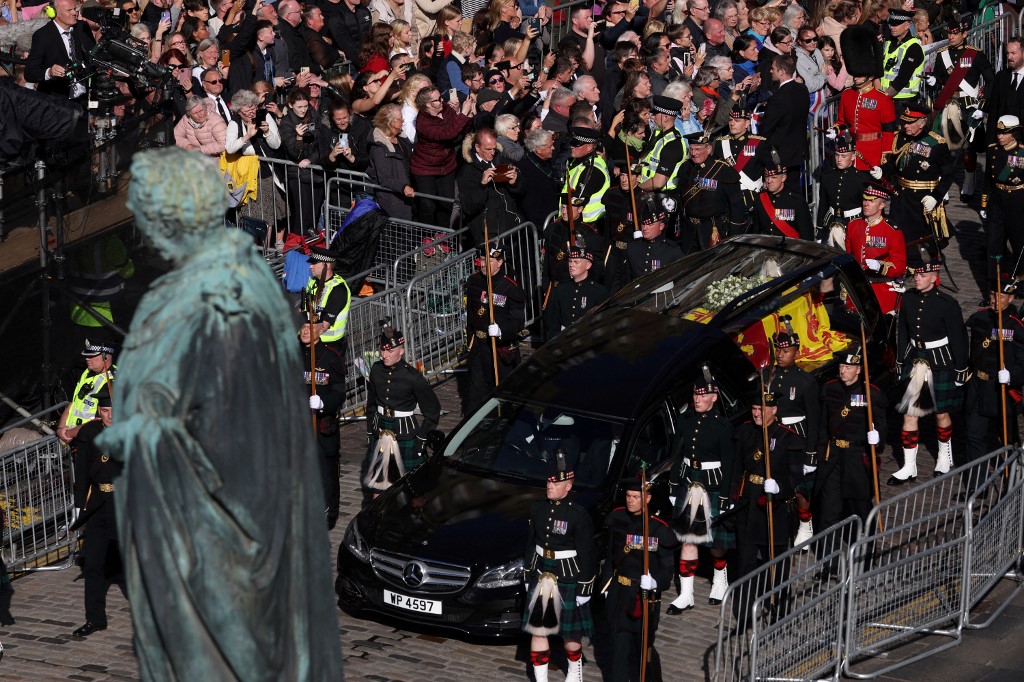
<path fill-rule="evenodd" d="M 712 159 L 710 131 L 685 136 L 690 158 L 679 170 L 679 187 L 686 220 L 680 246 L 684 253 L 701 251 L 739 235 L 746 225 L 746 207 L 739 189 L 739 173 L 720 159 Z"/>

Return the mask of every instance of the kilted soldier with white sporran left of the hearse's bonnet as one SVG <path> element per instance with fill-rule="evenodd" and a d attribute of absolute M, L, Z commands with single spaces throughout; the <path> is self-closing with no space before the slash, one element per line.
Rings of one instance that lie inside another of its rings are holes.
<path fill-rule="evenodd" d="M 406 361 L 404 335 L 384 324 L 380 351 L 367 381 L 367 439 L 372 447 L 362 479 L 377 493 L 426 461 L 427 433 L 441 418 L 434 389 Z M 416 419 L 417 406 L 422 421 Z"/>

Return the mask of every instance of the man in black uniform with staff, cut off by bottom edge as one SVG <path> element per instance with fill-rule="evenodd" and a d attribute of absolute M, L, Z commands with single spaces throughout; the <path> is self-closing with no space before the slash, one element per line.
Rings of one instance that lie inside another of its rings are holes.
<path fill-rule="evenodd" d="M 662 611 L 662 592 L 672 581 L 673 550 L 679 544 L 669 525 L 647 513 L 649 572 L 644 573 L 643 497 L 650 503 L 650 491 L 644 491 L 639 478 L 623 482 L 626 506 L 612 510 L 604 519 L 608 551 L 599 585 L 605 586 L 605 613 L 611 630 L 611 678 L 632 679 L 640 670 L 643 646 L 643 608 L 647 617 L 647 676 L 651 682 L 662 679 L 662 665 L 654 640 Z"/>

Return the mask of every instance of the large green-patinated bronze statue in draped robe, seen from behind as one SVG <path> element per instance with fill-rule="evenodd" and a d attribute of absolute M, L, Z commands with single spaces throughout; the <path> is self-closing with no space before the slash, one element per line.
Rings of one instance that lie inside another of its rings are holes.
<path fill-rule="evenodd" d="M 142 298 L 97 444 L 143 680 L 340 680 L 324 493 L 291 315 L 226 229 L 216 163 L 135 155 L 128 206 L 173 269 Z"/>

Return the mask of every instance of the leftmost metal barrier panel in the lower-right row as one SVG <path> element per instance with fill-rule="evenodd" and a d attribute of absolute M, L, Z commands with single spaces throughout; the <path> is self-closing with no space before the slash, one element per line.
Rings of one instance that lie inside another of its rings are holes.
<path fill-rule="evenodd" d="M 838 679 L 848 548 L 860 532 L 851 516 L 729 585 L 716 682 Z"/>

